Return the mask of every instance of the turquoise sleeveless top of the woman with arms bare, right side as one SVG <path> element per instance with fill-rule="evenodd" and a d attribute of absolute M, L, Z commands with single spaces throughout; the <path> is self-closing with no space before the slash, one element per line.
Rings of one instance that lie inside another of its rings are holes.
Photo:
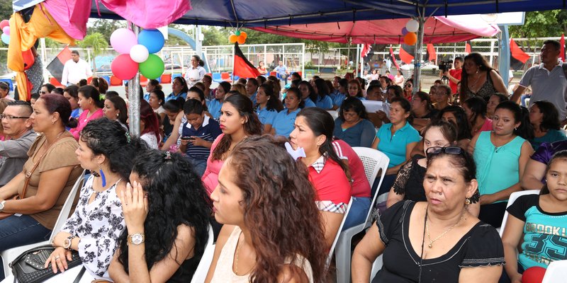
<path fill-rule="evenodd" d="M 490 132 L 481 132 L 473 153 L 478 192 L 481 195 L 500 192 L 520 181 L 518 160 L 524 141 L 522 137 L 515 137 L 507 144 L 496 147 L 490 141 Z"/>

